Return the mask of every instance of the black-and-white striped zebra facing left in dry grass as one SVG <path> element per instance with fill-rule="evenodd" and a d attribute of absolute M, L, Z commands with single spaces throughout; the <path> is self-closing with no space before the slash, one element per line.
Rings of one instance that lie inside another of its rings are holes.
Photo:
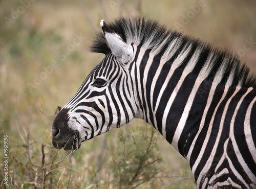
<path fill-rule="evenodd" d="M 105 57 L 55 117 L 53 146 L 79 149 L 140 118 L 187 159 L 198 188 L 256 188 L 256 77 L 239 57 L 149 18 L 100 26 L 90 51 Z"/>

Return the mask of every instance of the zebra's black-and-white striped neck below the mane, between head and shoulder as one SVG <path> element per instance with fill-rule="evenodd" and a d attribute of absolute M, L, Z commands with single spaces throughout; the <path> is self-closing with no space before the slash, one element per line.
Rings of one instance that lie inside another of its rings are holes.
<path fill-rule="evenodd" d="M 218 83 L 216 77 L 203 78 L 148 50 L 140 53 L 137 85 L 141 118 L 152 124 L 184 157 L 200 130 L 213 124 L 207 117 L 214 116 L 220 102 L 226 102 L 234 91 L 249 90 Z"/>

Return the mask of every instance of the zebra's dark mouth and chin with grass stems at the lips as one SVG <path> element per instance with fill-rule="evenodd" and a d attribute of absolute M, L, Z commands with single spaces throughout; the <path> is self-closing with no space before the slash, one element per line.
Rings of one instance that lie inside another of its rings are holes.
<path fill-rule="evenodd" d="M 78 150 L 81 147 L 81 142 L 79 141 L 79 133 L 73 133 L 67 140 L 58 141 L 56 138 L 52 138 L 52 144 L 56 149 L 63 150 Z"/>

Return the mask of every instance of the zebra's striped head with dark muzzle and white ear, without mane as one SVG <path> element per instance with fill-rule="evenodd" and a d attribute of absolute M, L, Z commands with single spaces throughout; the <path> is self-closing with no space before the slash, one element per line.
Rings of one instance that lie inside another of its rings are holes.
<path fill-rule="evenodd" d="M 135 56 L 133 45 L 124 42 L 103 20 L 100 26 L 111 52 L 56 116 L 52 143 L 57 149 L 78 149 L 82 141 L 121 127 L 137 114 L 129 72 Z"/>

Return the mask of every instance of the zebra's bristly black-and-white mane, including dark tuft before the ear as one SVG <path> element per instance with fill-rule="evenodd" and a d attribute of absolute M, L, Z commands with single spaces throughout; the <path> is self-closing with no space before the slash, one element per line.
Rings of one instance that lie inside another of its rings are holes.
<path fill-rule="evenodd" d="M 119 18 L 108 23 L 109 28 L 126 43 L 141 45 L 166 61 L 174 61 L 187 72 L 226 85 L 256 87 L 256 75 L 249 75 L 249 68 L 237 55 L 221 50 L 181 32 L 166 29 L 157 21 L 147 18 Z M 90 51 L 108 55 L 111 49 L 99 32 Z M 182 55 L 182 56 L 181 56 Z"/>

